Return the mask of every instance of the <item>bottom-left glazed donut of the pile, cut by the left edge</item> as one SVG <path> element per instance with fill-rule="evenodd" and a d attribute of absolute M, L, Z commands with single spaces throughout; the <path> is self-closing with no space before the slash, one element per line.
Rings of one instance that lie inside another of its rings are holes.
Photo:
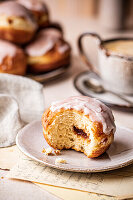
<path fill-rule="evenodd" d="M 0 40 L 0 73 L 24 75 L 26 56 L 16 45 Z"/>

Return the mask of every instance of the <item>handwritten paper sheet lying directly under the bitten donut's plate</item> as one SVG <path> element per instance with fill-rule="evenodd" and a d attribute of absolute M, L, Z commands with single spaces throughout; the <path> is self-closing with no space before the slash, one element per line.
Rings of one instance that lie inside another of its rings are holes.
<path fill-rule="evenodd" d="M 85 174 L 46 167 L 23 156 L 8 177 L 111 196 L 133 196 L 133 165 L 112 172 Z"/>

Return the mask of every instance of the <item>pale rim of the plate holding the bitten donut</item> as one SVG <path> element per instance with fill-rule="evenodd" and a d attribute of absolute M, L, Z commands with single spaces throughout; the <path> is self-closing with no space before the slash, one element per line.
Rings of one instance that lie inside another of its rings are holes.
<path fill-rule="evenodd" d="M 126 167 L 126 166 L 128 166 L 130 164 L 133 164 L 133 158 L 132 158 L 132 159 L 130 159 L 127 162 L 124 162 L 124 163 L 121 163 L 121 164 L 116 164 L 113 167 L 105 167 L 105 168 L 103 167 L 102 169 L 79 169 L 78 170 L 78 169 L 75 169 L 75 168 L 72 168 L 72 167 L 65 168 L 65 164 L 64 165 L 63 164 L 62 165 L 56 165 L 56 164 L 48 163 L 46 161 L 42 161 L 42 160 L 36 158 L 35 156 L 31 155 L 29 152 L 27 152 L 26 149 L 25 149 L 26 150 L 25 151 L 23 149 L 24 147 L 22 147 L 21 144 L 19 144 L 19 137 L 21 136 L 21 134 L 23 134 L 24 130 L 27 129 L 28 127 L 32 126 L 33 124 L 40 123 L 40 122 L 41 122 L 41 120 L 34 120 L 31 123 L 27 124 L 24 128 L 22 128 L 18 132 L 18 134 L 16 136 L 16 145 L 19 148 L 19 150 L 25 156 L 27 156 L 28 158 L 32 159 L 33 161 L 37 161 L 37 162 L 41 163 L 44 166 L 52 167 L 54 169 L 63 170 L 63 171 L 69 171 L 69 172 L 80 172 L 80 173 L 97 173 L 98 172 L 99 173 L 99 172 L 107 172 L 107 171 L 112 171 L 112 170 L 120 169 L 120 168 Z M 127 127 L 123 127 L 123 126 L 117 126 L 117 127 L 120 128 L 120 129 L 123 128 L 123 129 L 126 129 L 128 131 L 133 132 L 132 129 L 127 128 Z"/>

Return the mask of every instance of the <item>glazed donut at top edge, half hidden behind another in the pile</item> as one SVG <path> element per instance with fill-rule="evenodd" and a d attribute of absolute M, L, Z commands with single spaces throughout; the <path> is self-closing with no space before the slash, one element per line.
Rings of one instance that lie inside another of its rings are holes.
<path fill-rule="evenodd" d="M 17 0 L 17 2 L 32 12 L 39 27 L 45 27 L 49 24 L 48 8 L 43 1 L 41 1 L 41 0 Z"/>

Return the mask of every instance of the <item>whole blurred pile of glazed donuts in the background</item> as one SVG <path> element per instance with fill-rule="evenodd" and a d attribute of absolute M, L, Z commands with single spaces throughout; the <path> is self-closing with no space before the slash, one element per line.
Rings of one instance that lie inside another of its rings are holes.
<path fill-rule="evenodd" d="M 0 73 L 40 74 L 70 63 L 70 45 L 41 0 L 0 3 Z"/>

